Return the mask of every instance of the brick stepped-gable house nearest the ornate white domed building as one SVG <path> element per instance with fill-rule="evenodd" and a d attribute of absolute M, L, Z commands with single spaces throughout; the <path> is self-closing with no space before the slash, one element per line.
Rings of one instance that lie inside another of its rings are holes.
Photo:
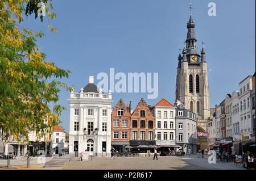
<path fill-rule="evenodd" d="M 115 105 L 111 116 L 112 147 L 123 153 L 125 146 L 130 145 L 131 102 L 125 106 L 122 99 Z"/>

